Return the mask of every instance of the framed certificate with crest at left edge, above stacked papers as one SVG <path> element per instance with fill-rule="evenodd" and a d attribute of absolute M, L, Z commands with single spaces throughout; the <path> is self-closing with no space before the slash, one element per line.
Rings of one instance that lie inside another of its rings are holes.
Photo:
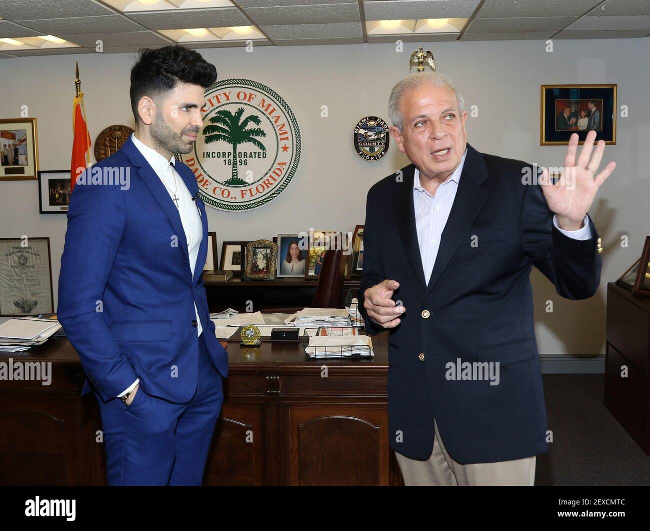
<path fill-rule="evenodd" d="M 0 238 L 0 316 L 51 312 L 49 238 Z"/>

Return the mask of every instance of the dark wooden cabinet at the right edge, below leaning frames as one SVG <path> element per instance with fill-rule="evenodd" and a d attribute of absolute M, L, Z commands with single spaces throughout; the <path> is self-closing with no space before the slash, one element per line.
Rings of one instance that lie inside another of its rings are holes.
<path fill-rule="evenodd" d="M 604 404 L 650 456 L 650 297 L 607 286 Z"/>

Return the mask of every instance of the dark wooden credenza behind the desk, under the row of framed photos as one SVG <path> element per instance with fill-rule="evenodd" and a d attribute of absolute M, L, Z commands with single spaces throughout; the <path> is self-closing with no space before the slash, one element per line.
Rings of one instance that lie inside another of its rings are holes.
<path fill-rule="evenodd" d="M 304 308 L 311 306 L 316 293 L 317 280 L 276 279 L 276 280 L 242 280 L 233 277 L 219 282 L 204 280 L 207 303 L 211 312 L 221 312 L 227 306 L 239 312 L 250 311 L 246 308 L 248 301 L 253 303 L 253 312 L 266 308 Z M 343 297 L 352 290 L 352 297 L 357 296 L 359 279 L 343 281 Z M 227 301 L 224 303 L 224 301 Z"/>

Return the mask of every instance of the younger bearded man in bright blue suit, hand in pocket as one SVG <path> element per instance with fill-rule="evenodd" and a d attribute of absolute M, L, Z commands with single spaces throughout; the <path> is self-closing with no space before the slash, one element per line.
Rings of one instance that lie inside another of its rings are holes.
<path fill-rule="evenodd" d="M 216 70 L 181 46 L 131 70 L 135 134 L 79 175 L 59 276 L 59 321 L 101 410 L 109 485 L 200 485 L 227 354 L 203 282 L 207 217 L 174 160 L 202 127 Z"/>

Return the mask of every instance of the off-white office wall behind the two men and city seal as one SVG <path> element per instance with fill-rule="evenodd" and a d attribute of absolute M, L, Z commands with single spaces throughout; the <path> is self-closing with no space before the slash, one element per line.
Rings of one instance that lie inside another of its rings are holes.
<path fill-rule="evenodd" d="M 650 234 L 650 107 L 647 88 L 650 39 L 431 43 L 439 72 L 452 76 L 469 108 L 468 141 L 479 151 L 560 166 L 564 146 L 539 146 L 539 85 L 617 83 L 618 105 L 629 118 L 617 120 L 617 145 L 604 160 L 617 168 L 591 207 L 603 239 L 601 289 L 588 301 L 565 301 L 534 271 L 539 352 L 602 353 L 606 282 L 613 282 L 642 251 Z M 352 130 L 362 116 L 387 119 L 393 85 L 408 74 L 415 45 L 397 53 L 391 44 L 204 49 L 219 79 L 248 77 L 274 88 L 291 105 L 303 133 L 303 158 L 294 182 L 276 200 L 257 210 L 224 213 L 208 207 L 209 228 L 218 248 L 226 240 L 272 238 L 309 227 L 354 230 L 365 219 L 370 185 L 406 165 L 395 143 L 376 162 L 363 161 L 352 146 Z M 88 127 L 94 141 L 112 124 L 133 126 L 129 106 L 132 54 L 79 54 L 21 57 L 0 61 L 0 117 L 19 116 L 21 105 L 38 118 L 40 168 L 70 167 L 75 61 L 79 61 Z M 320 117 L 328 105 L 328 118 Z M 604 167 L 605 162 L 602 166 Z M 326 192 L 327 191 L 327 192 Z M 291 212 L 291 215 L 287 215 Z M 37 182 L 0 182 L 0 237 L 49 236 L 55 304 L 66 216 L 38 213 Z M 89 228 L 92 230 L 92 228 Z M 621 248 L 622 235 L 629 248 Z M 554 301 L 553 314 L 545 312 Z M 227 301 L 224 301 L 224 307 Z"/>

